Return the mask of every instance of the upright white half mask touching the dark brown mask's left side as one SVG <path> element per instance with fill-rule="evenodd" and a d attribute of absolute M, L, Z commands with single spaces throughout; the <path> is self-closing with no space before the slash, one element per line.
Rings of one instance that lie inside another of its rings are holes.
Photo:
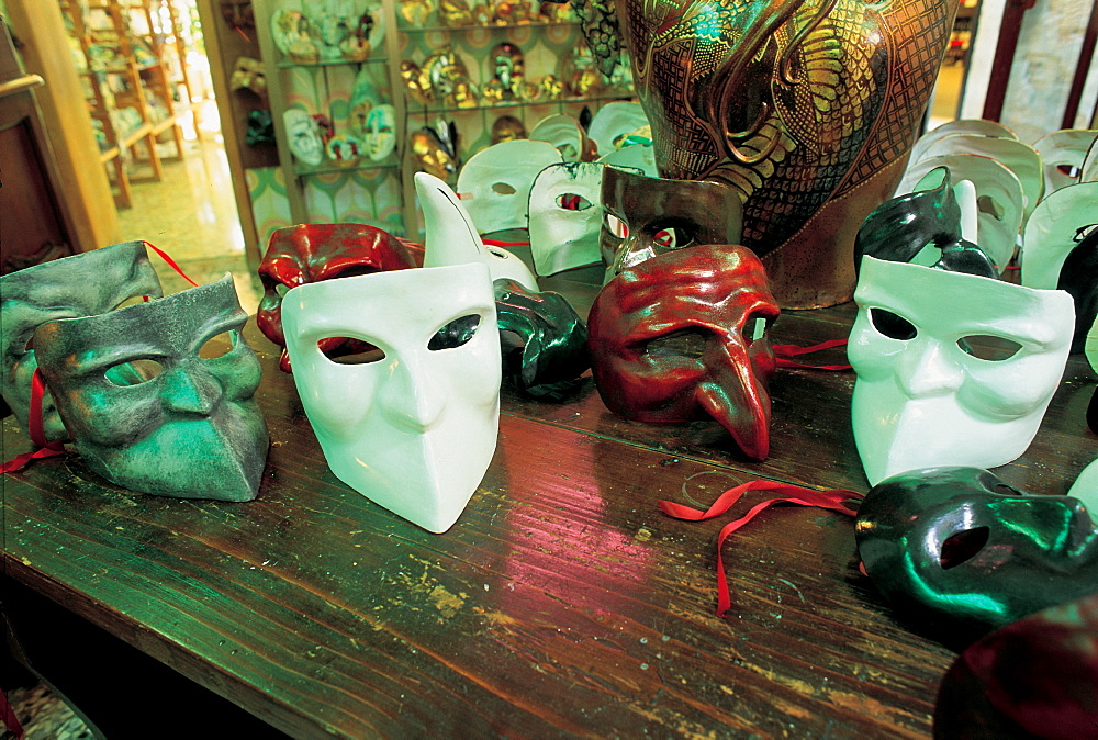
<path fill-rule="evenodd" d="M 603 165 L 563 162 L 541 170 L 530 189 L 530 251 L 538 274 L 602 261 Z"/>

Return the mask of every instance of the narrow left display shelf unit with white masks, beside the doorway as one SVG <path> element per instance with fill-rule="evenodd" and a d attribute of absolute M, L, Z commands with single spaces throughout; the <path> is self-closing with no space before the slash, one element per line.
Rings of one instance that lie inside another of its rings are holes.
<path fill-rule="evenodd" d="M 372 0 L 255 3 L 290 223 L 404 233 L 395 122 L 403 120 L 391 8 Z M 268 234 L 259 234 L 260 243 Z"/>

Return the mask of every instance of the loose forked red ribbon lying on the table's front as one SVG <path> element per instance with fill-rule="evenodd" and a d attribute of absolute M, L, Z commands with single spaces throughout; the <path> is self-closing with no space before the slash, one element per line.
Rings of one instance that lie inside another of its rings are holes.
<path fill-rule="evenodd" d="M 847 505 L 850 498 L 861 498 L 862 494 L 854 491 L 845 491 L 842 489 L 837 489 L 834 491 L 814 491 L 811 489 L 804 489 L 799 485 L 789 485 L 786 483 L 775 483 L 773 481 L 750 481 L 748 483 L 742 483 L 736 487 L 725 491 L 717 501 L 713 502 L 706 511 L 701 511 L 693 508 L 691 506 L 685 506 L 683 504 L 676 504 L 670 501 L 659 502 L 660 508 L 668 516 L 673 516 L 676 519 L 686 519 L 688 522 L 701 522 L 703 519 L 712 519 L 715 516 L 720 516 L 729 508 L 731 508 L 743 494 L 748 491 L 770 491 L 773 493 L 783 494 L 783 498 L 771 498 L 764 501 L 760 504 L 755 504 L 751 507 L 747 514 L 730 522 L 724 526 L 720 530 L 720 535 L 717 536 L 717 616 L 722 617 L 725 613 L 732 605 L 731 596 L 728 592 L 728 581 L 725 578 L 725 561 L 721 558 L 720 549 L 725 545 L 725 540 L 728 537 L 749 523 L 751 519 L 755 518 L 760 513 L 775 504 L 798 504 L 800 506 L 817 506 L 819 508 L 827 508 L 833 512 L 839 512 L 840 514 L 845 514 L 848 516 L 854 516 L 858 514 L 854 509 Z"/>

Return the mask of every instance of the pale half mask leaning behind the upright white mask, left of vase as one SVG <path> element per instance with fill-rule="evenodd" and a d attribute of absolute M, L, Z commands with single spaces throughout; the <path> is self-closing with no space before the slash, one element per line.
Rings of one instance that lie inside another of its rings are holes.
<path fill-rule="evenodd" d="M 552 144 L 500 142 L 481 149 L 458 172 L 458 192 L 481 234 L 526 228 L 526 205 L 538 172 L 561 161 Z"/>

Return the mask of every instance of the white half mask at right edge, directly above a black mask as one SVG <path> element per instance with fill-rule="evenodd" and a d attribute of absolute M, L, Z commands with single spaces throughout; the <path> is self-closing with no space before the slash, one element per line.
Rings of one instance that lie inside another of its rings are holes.
<path fill-rule="evenodd" d="M 1098 182 L 1077 182 L 1053 192 L 1026 224 L 1022 284 L 1057 288 L 1064 260 L 1098 223 Z"/>

